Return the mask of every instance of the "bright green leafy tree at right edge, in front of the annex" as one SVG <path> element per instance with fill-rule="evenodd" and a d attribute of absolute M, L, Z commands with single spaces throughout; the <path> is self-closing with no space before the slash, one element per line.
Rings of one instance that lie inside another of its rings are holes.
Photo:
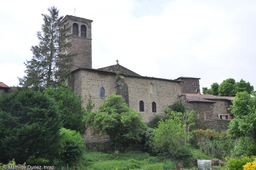
<path fill-rule="evenodd" d="M 238 92 L 232 103 L 235 119 L 231 120 L 228 133 L 241 138 L 242 155 L 256 155 L 256 94 Z"/>

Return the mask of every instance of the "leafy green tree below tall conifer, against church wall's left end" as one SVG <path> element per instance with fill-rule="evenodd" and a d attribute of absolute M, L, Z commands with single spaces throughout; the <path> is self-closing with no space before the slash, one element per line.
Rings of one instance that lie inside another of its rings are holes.
<path fill-rule="evenodd" d="M 83 133 L 85 130 L 85 110 L 81 97 L 78 97 L 71 87 L 66 86 L 64 83 L 56 88 L 53 86 L 48 87 L 45 89 L 45 93 L 55 99 L 63 127 Z"/>

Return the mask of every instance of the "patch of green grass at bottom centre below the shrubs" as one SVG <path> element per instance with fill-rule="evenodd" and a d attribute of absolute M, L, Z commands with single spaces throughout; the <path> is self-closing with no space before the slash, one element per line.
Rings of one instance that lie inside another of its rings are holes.
<path fill-rule="evenodd" d="M 175 167 L 176 162 L 139 151 L 118 155 L 94 151 L 86 153 L 86 164 L 87 170 L 164 170 L 164 165 Z"/>

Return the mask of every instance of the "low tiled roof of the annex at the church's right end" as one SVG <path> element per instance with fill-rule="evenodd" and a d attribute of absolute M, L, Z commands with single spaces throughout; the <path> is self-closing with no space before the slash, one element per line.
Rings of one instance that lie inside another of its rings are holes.
<path fill-rule="evenodd" d="M 214 96 L 212 94 L 183 94 L 180 96 L 186 96 L 188 102 L 208 102 L 215 103 L 212 100 L 233 100 L 235 97 L 229 96 Z"/>

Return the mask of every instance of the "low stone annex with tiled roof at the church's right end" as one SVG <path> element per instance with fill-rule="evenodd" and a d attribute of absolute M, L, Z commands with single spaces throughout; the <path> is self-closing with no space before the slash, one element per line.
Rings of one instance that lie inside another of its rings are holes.
<path fill-rule="evenodd" d="M 229 120 L 234 118 L 228 108 L 235 97 L 211 94 L 181 94 L 180 101 L 188 110 L 195 111 L 196 127 L 201 129 L 227 130 Z"/>

